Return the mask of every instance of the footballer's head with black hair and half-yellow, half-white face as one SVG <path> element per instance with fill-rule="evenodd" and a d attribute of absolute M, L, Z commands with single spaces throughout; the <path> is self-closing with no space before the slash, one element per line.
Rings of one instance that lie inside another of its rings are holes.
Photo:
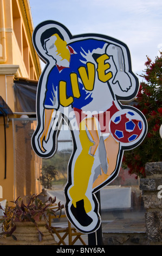
<path fill-rule="evenodd" d="M 47 29 L 41 36 L 41 44 L 46 54 L 54 59 L 69 59 L 67 42 L 56 28 Z"/>

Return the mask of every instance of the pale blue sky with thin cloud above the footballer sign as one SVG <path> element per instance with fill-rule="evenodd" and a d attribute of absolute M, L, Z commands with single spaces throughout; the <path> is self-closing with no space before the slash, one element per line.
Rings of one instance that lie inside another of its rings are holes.
<path fill-rule="evenodd" d="M 75 34 L 98 33 L 119 39 L 131 52 L 135 74 L 162 50 L 161 0 L 29 0 L 34 27 L 55 20 Z M 141 80 L 140 77 L 138 77 Z"/>

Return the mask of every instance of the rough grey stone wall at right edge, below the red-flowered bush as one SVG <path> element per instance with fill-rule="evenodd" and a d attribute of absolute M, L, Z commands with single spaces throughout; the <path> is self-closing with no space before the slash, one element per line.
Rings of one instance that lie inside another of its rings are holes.
<path fill-rule="evenodd" d="M 162 245 L 162 162 L 146 163 L 146 178 L 140 179 L 144 199 L 148 245 Z"/>

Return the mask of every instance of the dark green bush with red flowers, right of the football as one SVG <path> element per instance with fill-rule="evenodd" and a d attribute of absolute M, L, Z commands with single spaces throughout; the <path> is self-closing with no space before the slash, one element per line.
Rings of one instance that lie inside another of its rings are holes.
<path fill-rule="evenodd" d="M 134 106 L 146 117 L 148 131 L 144 141 L 135 149 L 125 151 L 123 167 L 129 168 L 129 173 L 140 177 L 145 176 L 147 162 L 162 161 L 162 139 L 159 128 L 162 124 L 162 52 L 154 62 L 147 57 L 145 81 L 140 83 L 139 92 Z"/>

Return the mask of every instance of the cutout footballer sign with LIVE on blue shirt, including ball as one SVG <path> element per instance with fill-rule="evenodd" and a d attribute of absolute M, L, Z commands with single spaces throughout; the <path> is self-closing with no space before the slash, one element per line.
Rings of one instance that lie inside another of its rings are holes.
<path fill-rule="evenodd" d="M 92 233 L 101 224 L 95 192 L 118 176 L 124 150 L 146 135 L 144 115 L 121 103 L 133 100 L 139 89 L 129 50 L 106 35 L 73 36 L 55 21 L 40 23 L 33 43 L 47 63 L 38 82 L 33 149 L 40 157 L 53 156 L 66 122 L 73 139 L 66 214 L 82 233 Z"/>

